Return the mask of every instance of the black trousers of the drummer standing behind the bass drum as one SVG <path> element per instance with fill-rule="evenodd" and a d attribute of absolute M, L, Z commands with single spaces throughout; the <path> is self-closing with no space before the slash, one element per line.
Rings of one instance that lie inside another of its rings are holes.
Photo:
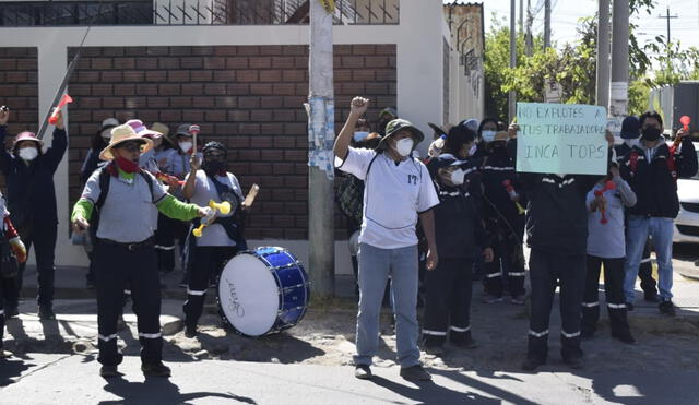
<path fill-rule="evenodd" d="M 212 278 L 218 278 L 225 263 L 238 252 L 236 247 L 197 247 L 189 270 L 185 310 L 185 325 L 196 327 Z"/>

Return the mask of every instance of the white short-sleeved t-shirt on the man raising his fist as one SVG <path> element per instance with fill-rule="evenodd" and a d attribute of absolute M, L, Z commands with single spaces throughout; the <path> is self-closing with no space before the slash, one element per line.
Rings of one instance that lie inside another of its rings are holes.
<path fill-rule="evenodd" d="M 384 153 L 354 147 L 344 162 L 335 162 L 340 170 L 365 181 L 359 242 L 380 249 L 417 245 L 418 213 L 439 204 L 427 167 L 415 158 L 396 165 Z"/>

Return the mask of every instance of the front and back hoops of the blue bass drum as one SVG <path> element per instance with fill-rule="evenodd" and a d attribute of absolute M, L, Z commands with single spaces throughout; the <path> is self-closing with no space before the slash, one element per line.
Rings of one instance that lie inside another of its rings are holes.
<path fill-rule="evenodd" d="M 283 297 L 284 297 L 284 291 L 283 289 L 280 287 L 282 285 L 281 279 L 279 278 L 279 275 L 273 272 L 271 269 L 273 269 L 274 266 L 272 265 L 272 263 L 270 263 L 269 261 L 266 261 L 261 254 L 259 254 L 257 252 L 258 249 L 276 249 L 279 253 L 279 251 L 284 251 L 286 254 L 289 255 L 289 259 L 292 259 L 294 261 L 294 263 L 296 263 L 296 265 L 298 266 L 298 269 L 300 270 L 300 274 L 301 274 L 301 278 L 304 279 L 304 290 L 305 290 L 305 295 L 306 295 L 306 305 L 304 306 L 304 309 L 301 311 L 301 313 L 299 314 L 298 319 L 294 322 L 294 323 L 285 323 L 284 325 L 280 325 L 280 323 L 282 322 L 280 319 L 280 313 L 282 311 L 279 310 L 279 308 L 282 307 L 282 303 L 284 302 Z M 238 254 L 252 254 L 254 257 L 257 257 L 258 259 L 261 259 L 264 261 L 264 263 L 268 265 L 266 270 L 272 273 L 272 275 L 274 276 L 274 279 L 276 279 L 277 284 L 276 284 L 276 289 L 277 289 L 277 310 L 276 310 L 276 318 L 274 319 L 274 323 L 272 324 L 272 327 L 270 327 L 269 331 L 266 331 L 265 333 L 261 334 L 261 335 L 249 335 L 247 333 L 244 333 L 242 331 L 238 330 L 229 320 L 228 317 L 226 317 L 226 313 L 223 310 L 223 305 L 221 302 L 221 298 L 220 298 L 220 285 L 221 285 L 221 276 L 223 274 L 223 270 L 221 272 L 221 274 L 218 274 L 218 277 L 216 278 L 216 307 L 218 308 L 218 314 L 221 315 L 224 324 L 228 325 L 229 329 L 237 335 L 242 336 L 242 337 L 247 337 L 247 338 L 257 338 L 257 337 L 262 337 L 262 336 L 266 336 L 266 335 L 272 335 L 275 333 L 281 333 L 284 330 L 287 330 L 289 327 L 296 326 L 305 317 L 306 317 L 306 312 L 308 311 L 308 307 L 310 305 L 310 279 L 308 278 L 308 275 L 306 274 L 306 269 L 304 267 L 304 264 L 301 263 L 300 260 L 298 260 L 298 258 L 296 258 L 296 255 L 294 253 L 292 253 L 288 249 L 286 248 L 282 248 L 282 247 L 275 247 L 275 246 L 260 246 L 256 249 L 248 249 L 248 250 L 241 250 L 238 253 L 236 253 L 233 258 L 226 260 L 226 262 L 224 263 L 224 269 L 225 266 L 228 264 L 229 261 L 232 261 L 235 257 L 237 257 Z"/>

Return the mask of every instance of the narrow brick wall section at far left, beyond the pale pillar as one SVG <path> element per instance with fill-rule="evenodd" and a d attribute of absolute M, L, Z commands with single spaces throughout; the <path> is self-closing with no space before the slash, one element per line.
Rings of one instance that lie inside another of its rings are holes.
<path fill-rule="evenodd" d="M 22 131 L 38 131 L 37 49 L 0 48 L 0 106 L 10 108 L 8 139 Z M 4 192 L 4 176 L 0 174 Z"/>

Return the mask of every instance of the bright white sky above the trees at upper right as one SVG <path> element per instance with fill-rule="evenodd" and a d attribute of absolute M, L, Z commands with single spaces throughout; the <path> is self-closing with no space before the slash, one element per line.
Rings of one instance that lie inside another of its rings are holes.
<path fill-rule="evenodd" d="M 523 0 L 525 8 L 526 1 Z M 450 3 L 452 1 L 445 2 Z M 493 12 L 496 12 L 500 19 L 509 19 L 510 0 L 471 0 L 471 2 L 483 2 L 486 32 L 490 28 Z M 543 0 L 530 0 L 530 2 L 532 8 L 544 3 Z M 609 2 L 613 3 L 614 0 L 609 0 Z M 516 0 L 516 3 L 519 8 L 520 0 Z M 699 33 L 699 0 L 655 0 L 655 4 L 651 15 L 642 12 L 641 15 L 632 19 L 633 23 L 639 26 L 637 33 L 641 45 L 653 40 L 656 35 L 665 35 L 667 33 L 666 19 L 661 19 L 659 15 L 665 15 L 666 8 L 670 7 L 670 14 L 678 15 L 677 19 L 671 19 L 671 39 L 673 41 L 679 39 L 683 48 L 689 46 L 699 47 L 699 35 L 697 35 Z M 552 0 L 552 39 L 558 41 L 559 45 L 576 40 L 578 20 L 594 15 L 597 10 L 596 0 Z M 509 24 L 509 20 L 507 23 Z M 532 26 L 534 33 L 543 33 L 543 5 L 538 14 L 536 14 Z"/>

